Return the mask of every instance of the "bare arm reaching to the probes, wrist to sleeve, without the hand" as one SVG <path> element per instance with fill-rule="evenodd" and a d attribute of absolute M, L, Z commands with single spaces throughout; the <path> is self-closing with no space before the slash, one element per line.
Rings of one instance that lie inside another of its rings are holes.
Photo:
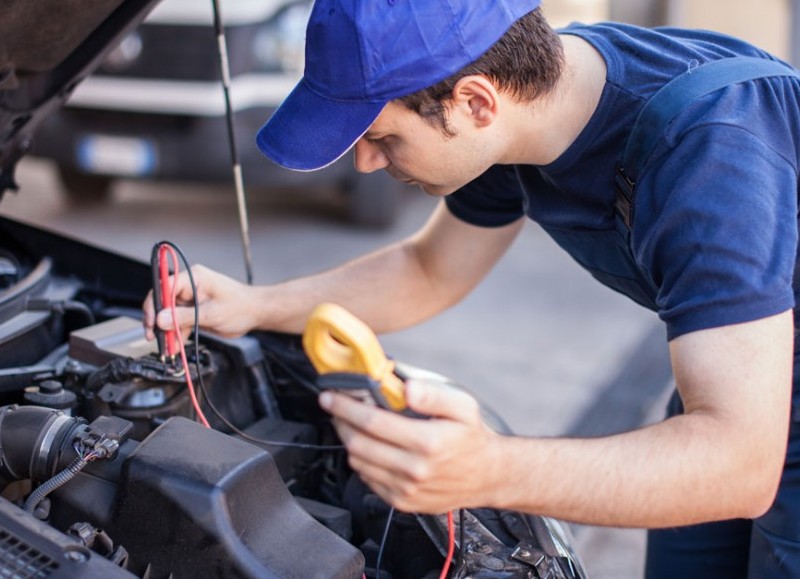
<path fill-rule="evenodd" d="M 412 326 L 472 290 L 523 223 L 476 227 L 440 203 L 425 226 L 401 242 L 318 275 L 262 288 L 257 327 L 299 332 L 311 309 L 325 301 L 347 308 L 379 333 Z"/>

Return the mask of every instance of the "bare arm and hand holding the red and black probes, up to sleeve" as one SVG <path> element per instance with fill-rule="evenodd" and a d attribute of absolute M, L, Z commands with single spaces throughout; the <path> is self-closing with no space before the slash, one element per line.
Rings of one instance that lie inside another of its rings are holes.
<path fill-rule="evenodd" d="M 253 329 L 299 333 L 311 310 L 323 301 L 352 311 L 377 332 L 414 325 L 452 306 L 486 275 L 522 227 L 482 228 L 454 217 L 440 203 L 428 222 L 409 238 L 326 272 L 281 284 L 248 287 L 206 268 L 194 268 L 200 325 L 223 335 Z M 178 301 L 192 301 L 186 276 Z M 155 313 L 145 301 L 145 328 L 152 335 Z M 177 311 L 188 329 L 194 312 Z M 159 326 L 170 329 L 169 312 Z"/>

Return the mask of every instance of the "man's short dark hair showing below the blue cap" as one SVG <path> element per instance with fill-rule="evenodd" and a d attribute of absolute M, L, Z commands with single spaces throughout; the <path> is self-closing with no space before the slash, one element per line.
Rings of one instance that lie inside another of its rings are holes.
<path fill-rule="evenodd" d="M 453 135 L 445 116 L 444 101 L 453 95 L 459 79 L 482 74 L 515 98 L 533 100 L 549 93 L 561 76 L 564 48 L 541 8 L 517 20 L 483 56 L 428 88 L 399 100 L 445 134 Z"/>

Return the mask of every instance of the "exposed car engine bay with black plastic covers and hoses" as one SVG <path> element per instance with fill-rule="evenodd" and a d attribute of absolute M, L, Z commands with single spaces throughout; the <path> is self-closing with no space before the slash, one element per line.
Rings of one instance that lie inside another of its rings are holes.
<path fill-rule="evenodd" d="M 0 248 L 0 575 L 440 576 L 445 516 L 352 472 L 299 336 L 201 333 L 165 363 L 146 264 L 8 219 Z M 556 521 L 456 520 L 449 577 L 584 576 Z"/>

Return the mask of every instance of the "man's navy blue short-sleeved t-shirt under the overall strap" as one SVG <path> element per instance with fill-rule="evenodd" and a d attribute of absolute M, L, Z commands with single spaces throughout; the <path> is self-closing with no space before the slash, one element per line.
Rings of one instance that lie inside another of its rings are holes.
<path fill-rule="evenodd" d="M 615 169 L 647 99 L 704 62 L 772 57 L 706 31 L 606 23 L 560 32 L 606 61 L 594 115 L 553 163 L 495 166 L 447 197 L 449 210 L 488 227 L 527 215 L 601 282 L 657 311 L 670 339 L 800 303 L 800 80 L 747 81 L 686 107 L 645 164 L 633 223 L 621 231 Z"/>

